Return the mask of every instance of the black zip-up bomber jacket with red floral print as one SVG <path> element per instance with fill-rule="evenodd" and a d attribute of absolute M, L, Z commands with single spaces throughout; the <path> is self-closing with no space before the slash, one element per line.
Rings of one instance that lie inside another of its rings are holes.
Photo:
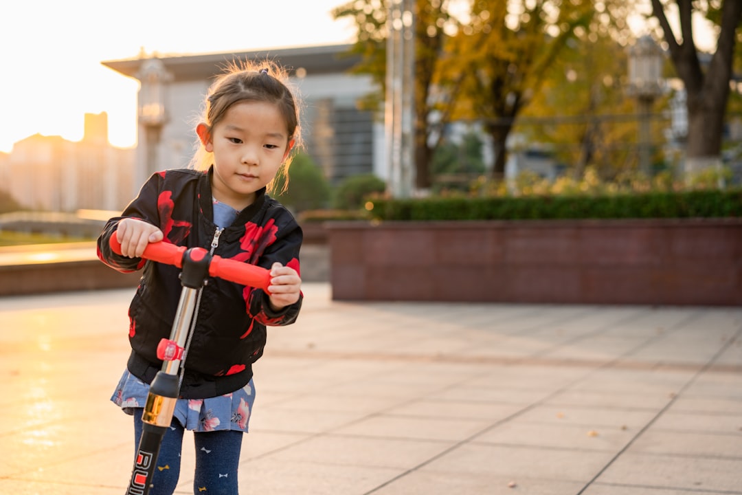
<path fill-rule="evenodd" d="M 120 217 L 108 220 L 98 238 L 98 257 L 103 263 L 119 272 L 144 268 L 129 306 L 132 352 L 128 370 L 147 383 L 162 367 L 157 345 L 171 334 L 182 292 L 180 269 L 116 255 L 109 240 L 119 220 L 136 217 L 158 226 L 165 235 L 163 242 L 211 251 L 218 230 L 211 201 L 211 170 L 158 172 Z M 255 203 L 223 230 L 213 254 L 264 268 L 278 261 L 299 272 L 301 241 L 301 228 L 292 214 L 263 189 Z M 203 287 L 180 396 L 206 399 L 245 386 L 252 378 L 252 363 L 263 354 L 266 325 L 292 324 L 301 301 L 272 312 L 262 289 L 210 278 Z"/>

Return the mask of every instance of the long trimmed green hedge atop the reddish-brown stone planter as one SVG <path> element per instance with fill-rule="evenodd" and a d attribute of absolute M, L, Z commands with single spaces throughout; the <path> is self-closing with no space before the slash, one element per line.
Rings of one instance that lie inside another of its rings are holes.
<path fill-rule="evenodd" d="M 555 220 L 690 218 L 742 215 L 742 189 L 603 196 L 375 198 L 379 220 Z"/>

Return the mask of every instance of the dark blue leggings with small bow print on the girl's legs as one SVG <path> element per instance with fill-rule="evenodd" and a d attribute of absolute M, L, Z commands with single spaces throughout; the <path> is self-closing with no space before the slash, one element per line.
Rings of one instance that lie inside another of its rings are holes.
<path fill-rule="evenodd" d="M 134 410 L 134 452 L 139 450 L 142 436 L 142 408 Z M 171 495 L 180 477 L 180 450 L 185 429 L 173 419 L 165 432 L 152 477 L 150 495 Z M 218 430 L 194 433 L 196 471 L 193 493 L 208 495 L 237 495 L 237 468 L 240 464 L 242 432 Z"/>

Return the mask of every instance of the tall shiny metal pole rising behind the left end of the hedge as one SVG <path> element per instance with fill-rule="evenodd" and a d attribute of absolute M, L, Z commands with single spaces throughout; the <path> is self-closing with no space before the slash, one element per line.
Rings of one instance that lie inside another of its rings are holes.
<path fill-rule="evenodd" d="M 387 168 L 394 197 L 410 197 L 415 183 L 415 0 L 392 0 L 387 17 L 387 92 L 384 113 Z"/>

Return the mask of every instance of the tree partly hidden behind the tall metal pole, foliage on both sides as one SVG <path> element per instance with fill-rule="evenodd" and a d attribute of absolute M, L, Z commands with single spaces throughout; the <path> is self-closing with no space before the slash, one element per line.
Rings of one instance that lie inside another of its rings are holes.
<path fill-rule="evenodd" d="M 446 30 L 454 23 L 447 13 L 447 0 L 417 0 L 415 24 L 415 169 L 416 187 L 430 187 L 430 161 L 439 143 L 440 134 L 434 132 L 431 115 L 439 111 L 431 97 L 436 85 L 438 66 L 443 51 Z M 354 0 L 332 11 L 335 19 L 350 17 L 355 20 L 358 35 L 352 53 L 360 54 L 361 62 L 355 73 L 372 76 L 380 92 L 368 95 L 361 103 L 372 111 L 381 109 L 386 88 L 387 14 L 382 0 Z M 433 137 L 436 136 L 436 137 Z"/>

